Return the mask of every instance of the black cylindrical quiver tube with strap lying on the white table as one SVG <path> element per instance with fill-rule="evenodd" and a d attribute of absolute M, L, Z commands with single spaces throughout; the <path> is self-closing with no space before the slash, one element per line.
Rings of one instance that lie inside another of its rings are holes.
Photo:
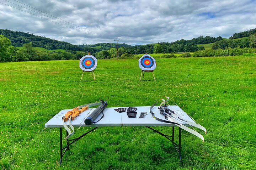
<path fill-rule="evenodd" d="M 104 113 L 103 110 L 107 107 L 107 102 L 104 102 L 103 100 L 101 101 L 101 105 L 99 107 L 97 107 L 91 114 L 88 115 L 88 117 L 85 119 L 85 124 L 86 125 L 91 125 L 92 123 L 97 123 L 98 121 L 100 121 L 103 117 L 104 117 Z M 100 113 L 102 113 L 102 117 L 96 121 L 95 119 L 98 117 L 98 115 L 100 115 Z"/>

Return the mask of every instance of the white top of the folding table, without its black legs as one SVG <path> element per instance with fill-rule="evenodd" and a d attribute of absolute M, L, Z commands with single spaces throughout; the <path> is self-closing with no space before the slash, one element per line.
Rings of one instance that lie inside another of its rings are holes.
<path fill-rule="evenodd" d="M 133 106 L 134 107 L 134 106 Z M 127 113 L 118 113 L 114 111 L 116 107 L 107 107 L 104 109 L 103 113 L 105 116 L 95 124 L 91 124 L 89 126 L 176 126 L 170 123 L 164 123 L 158 120 L 155 120 L 149 112 L 151 106 L 140 106 L 137 107 L 137 115 L 136 118 L 128 118 Z M 126 108 L 126 107 L 122 107 Z M 180 114 L 184 119 L 194 122 L 182 109 L 178 106 L 168 106 L 169 109 L 175 111 Z M 95 108 L 89 108 L 88 110 L 82 112 L 75 120 L 71 121 L 71 124 L 74 127 L 79 126 L 87 126 L 84 124 L 85 118 L 87 115 L 91 113 Z M 50 119 L 44 126 L 46 128 L 63 128 L 63 120 L 62 117 L 66 114 L 66 112 L 71 111 L 72 109 L 65 109 L 56 114 L 52 119 Z M 166 120 L 163 115 L 160 114 L 158 110 L 158 106 L 155 106 L 152 111 L 154 112 L 155 117 Z M 139 118 L 140 112 L 147 112 L 148 114 L 145 118 Z M 100 114 L 96 121 L 100 119 L 102 114 Z M 181 123 L 185 126 L 188 126 L 185 122 L 177 120 L 178 123 Z M 68 125 L 68 121 L 65 122 Z M 68 125 L 69 126 L 69 125 Z"/>

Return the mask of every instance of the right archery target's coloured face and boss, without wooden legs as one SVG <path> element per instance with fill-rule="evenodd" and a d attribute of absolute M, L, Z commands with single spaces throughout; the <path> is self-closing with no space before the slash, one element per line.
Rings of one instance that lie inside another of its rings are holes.
<path fill-rule="evenodd" d="M 143 55 L 139 59 L 139 67 L 142 70 L 154 70 L 156 68 L 155 58 L 148 54 Z"/>

